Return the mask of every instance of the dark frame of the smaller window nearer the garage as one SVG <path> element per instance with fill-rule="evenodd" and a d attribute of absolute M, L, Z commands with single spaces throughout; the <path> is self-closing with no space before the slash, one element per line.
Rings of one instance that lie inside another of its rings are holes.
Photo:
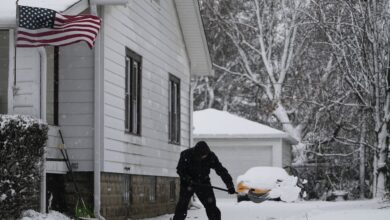
<path fill-rule="evenodd" d="M 181 83 L 180 79 L 169 74 L 168 83 L 168 142 L 170 144 L 181 144 Z M 176 85 L 176 92 L 172 93 Z M 176 96 L 175 96 L 176 95 Z M 174 101 L 175 99 L 175 101 Z M 176 115 L 172 109 L 176 107 Z M 176 123 L 175 123 L 176 122 Z M 175 129 L 175 131 L 173 131 Z"/>

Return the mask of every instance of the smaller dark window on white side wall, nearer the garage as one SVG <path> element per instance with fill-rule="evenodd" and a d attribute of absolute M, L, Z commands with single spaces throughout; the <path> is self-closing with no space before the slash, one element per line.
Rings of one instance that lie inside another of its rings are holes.
<path fill-rule="evenodd" d="M 180 144 L 180 79 L 169 75 L 169 143 Z"/>

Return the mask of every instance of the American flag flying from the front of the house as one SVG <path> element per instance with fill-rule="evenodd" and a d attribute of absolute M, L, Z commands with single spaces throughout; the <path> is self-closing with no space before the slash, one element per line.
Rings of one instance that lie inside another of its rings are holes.
<path fill-rule="evenodd" d="M 19 6 L 18 47 L 95 43 L 101 20 L 93 15 L 62 15 L 54 10 Z"/>

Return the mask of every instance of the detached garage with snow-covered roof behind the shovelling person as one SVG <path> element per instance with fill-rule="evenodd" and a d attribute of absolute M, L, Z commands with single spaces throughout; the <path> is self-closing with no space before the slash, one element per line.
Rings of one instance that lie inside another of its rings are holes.
<path fill-rule="evenodd" d="M 206 141 L 234 182 L 251 167 L 291 165 L 291 148 L 298 142 L 283 131 L 216 109 L 196 111 L 193 117 L 194 142 Z M 225 186 L 214 172 L 211 182 Z M 216 196 L 228 194 L 216 192 Z"/>

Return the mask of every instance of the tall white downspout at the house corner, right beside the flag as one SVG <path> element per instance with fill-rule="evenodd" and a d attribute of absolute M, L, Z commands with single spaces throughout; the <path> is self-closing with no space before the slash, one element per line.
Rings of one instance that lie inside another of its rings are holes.
<path fill-rule="evenodd" d="M 98 5 L 127 5 L 127 0 L 90 0 L 91 14 L 98 16 Z M 103 67 L 103 48 L 102 48 L 102 32 L 104 31 L 104 23 L 102 22 L 101 31 L 95 41 L 94 53 L 94 79 L 95 79 L 95 94 L 94 94 L 94 214 L 95 218 L 105 220 L 100 214 L 101 208 L 101 151 L 104 150 L 104 67 Z"/>

